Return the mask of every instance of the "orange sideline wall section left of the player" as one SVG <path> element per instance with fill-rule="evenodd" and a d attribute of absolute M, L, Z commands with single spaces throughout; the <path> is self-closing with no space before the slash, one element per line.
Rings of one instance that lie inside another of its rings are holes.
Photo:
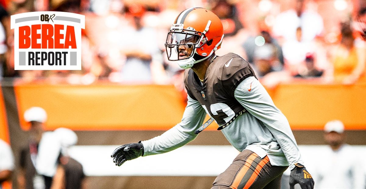
<path fill-rule="evenodd" d="M 161 130 L 178 123 L 185 107 L 168 85 L 27 84 L 14 90 L 23 129 L 29 125 L 22 115 L 32 106 L 48 113 L 47 130 Z"/>

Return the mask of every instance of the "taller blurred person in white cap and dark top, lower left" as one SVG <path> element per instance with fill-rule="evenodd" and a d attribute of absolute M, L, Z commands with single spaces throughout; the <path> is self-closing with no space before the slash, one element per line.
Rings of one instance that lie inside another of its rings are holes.
<path fill-rule="evenodd" d="M 24 112 L 24 119 L 31 126 L 29 140 L 26 146 L 20 151 L 18 186 L 20 189 L 45 188 L 45 182 L 51 182 L 51 179 L 37 174 L 35 166 L 38 155 L 38 144 L 44 132 L 43 127 L 47 119 L 47 114 L 43 108 L 31 107 Z"/>

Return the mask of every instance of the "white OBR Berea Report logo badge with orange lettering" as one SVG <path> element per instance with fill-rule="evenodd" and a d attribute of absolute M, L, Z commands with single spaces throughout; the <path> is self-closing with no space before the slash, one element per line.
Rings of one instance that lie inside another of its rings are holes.
<path fill-rule="evenodd" d="M 15 70 L 81 70 L 85 16 L 70 12 L 26 12 L 11 16 Z"/>

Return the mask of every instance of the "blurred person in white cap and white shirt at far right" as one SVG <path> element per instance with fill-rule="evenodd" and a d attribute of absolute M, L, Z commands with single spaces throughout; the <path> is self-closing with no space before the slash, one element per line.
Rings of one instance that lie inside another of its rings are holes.
<path fill-rule="evenodd" d="M 329 148 L 317 154 L 312 171 L 317 188 L 364 189 L 363 160 L 357 159 L 352 147 L 344 144 L 344 126 L 339 120 L 326 123 L 324 139 Z"/>

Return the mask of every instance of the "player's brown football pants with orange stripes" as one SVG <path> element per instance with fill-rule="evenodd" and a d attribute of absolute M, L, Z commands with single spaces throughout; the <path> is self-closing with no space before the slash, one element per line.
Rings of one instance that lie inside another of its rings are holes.
<path fill-rule="evenodd" d="M 280 189 L 286 169 L 287 166 L 272 166 L 268 156 L 261 159 L 256 153 L 244 150 L 216 177 L 211 189 Z"/>

